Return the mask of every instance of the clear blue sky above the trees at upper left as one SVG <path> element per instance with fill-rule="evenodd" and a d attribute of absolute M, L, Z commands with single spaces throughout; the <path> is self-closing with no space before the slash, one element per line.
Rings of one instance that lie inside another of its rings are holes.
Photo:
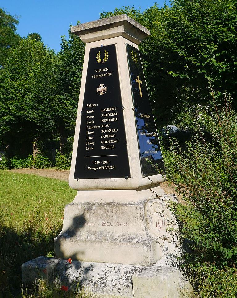
<path fill-rule="evenodd" d="M 76 25 L 77 20 L 81 23 L 94 21 L 99 18 L 100 12 L 122 6 L 140 7 L 143 11 L 155 2 L 159 7 L 164 4 L 164 0 L 1 0 L 0 7 L 11 15 L 19 16 L 17 33 L 20 36 L 37 32 L 45 45 L 58 52 L 60 36 L 68 36 L 70 24 Z"/>

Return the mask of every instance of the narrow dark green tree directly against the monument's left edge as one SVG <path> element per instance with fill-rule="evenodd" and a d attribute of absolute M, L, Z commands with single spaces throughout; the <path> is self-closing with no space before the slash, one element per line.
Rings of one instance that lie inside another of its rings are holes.
<path fill-rule="evenodd" d="M 67 137 L 75 128 L 85 44 L 69 31 L 69 40 L 62 36 L 61 46 L 53 115 L 60 134 L 60 153 L 64 153 Z"/>

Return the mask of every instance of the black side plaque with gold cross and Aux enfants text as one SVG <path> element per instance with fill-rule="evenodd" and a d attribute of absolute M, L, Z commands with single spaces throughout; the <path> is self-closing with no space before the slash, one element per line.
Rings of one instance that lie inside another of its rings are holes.
<path fill-rule="evenodd" d="M 143 73 L 142 62 L 138 49 L 129 44 L 126 44 L 126 47 L 135 107 L 142 174 L 144 176 L 155 175 L 164 171 L 164 162 Z M 148 163 L 147 159 L 150 160 L 153 165 L 157 164 L 160 172 L 156 171 L 156 167 Z"/>

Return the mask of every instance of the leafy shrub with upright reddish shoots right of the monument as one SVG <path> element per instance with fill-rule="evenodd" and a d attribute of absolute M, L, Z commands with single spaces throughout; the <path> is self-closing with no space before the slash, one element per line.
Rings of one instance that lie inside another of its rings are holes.
<path fill-rule="evenodd" d="M 209 113 L 200 117 L 186 149 L 171 138 L 166 165 L 186 201 L 177 212 L 196 262 L 222 267 L 237 262 L 237 112 L 230 96 L 220 104 L 212 88 L 211 95 Z"/>

